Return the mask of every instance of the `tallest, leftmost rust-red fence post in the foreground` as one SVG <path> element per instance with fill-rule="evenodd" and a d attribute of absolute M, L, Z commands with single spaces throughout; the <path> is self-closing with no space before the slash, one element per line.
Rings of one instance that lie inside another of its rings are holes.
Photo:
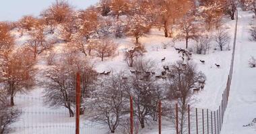
<path fill-rule="evenodd" d="M 79 115 L 80 115 L 80 74 L 76 74 L 76 107 L 75 107 L 75 134 L 79 134 Z"/>

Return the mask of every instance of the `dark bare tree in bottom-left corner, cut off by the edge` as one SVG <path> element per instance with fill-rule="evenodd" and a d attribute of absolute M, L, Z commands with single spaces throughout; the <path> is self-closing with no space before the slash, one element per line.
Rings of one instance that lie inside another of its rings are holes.
<path fill-rule="evenodd" d="M 18 121 L 21 112 L 16 107 L 11 107 L 7 100 L 5 90 L 0 89 L 0 133 L 10 133 L 13 131 L 9 126 Z"/>

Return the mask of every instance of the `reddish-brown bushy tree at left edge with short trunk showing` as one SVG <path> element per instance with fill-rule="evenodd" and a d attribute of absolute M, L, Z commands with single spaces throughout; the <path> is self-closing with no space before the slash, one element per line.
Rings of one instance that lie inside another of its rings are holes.
<path fill-rule="evenodd" d="M 32 52 L 28 48 L 6 54 L 0 64 L 0 73 L 3 77 L 0 82 L 10 96 L 10 104 L 14 106 L 14 96 L 17 92 L 26 92 L 34 86 L 34 64 L 36 61 L 31 57 Z"/>

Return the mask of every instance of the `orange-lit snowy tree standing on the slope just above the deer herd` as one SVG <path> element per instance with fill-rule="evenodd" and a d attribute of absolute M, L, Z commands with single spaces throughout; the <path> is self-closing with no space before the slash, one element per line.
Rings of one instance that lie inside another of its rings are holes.
<path fill-rule="evenodd" d="M 192 15 L 187 15 L 181 20 L 179 28 L 181 29 L 180 38 L 186 40 L 186 48 L 188 47 L 189 40 L 197 38 L 197 25 L 195 25 L 195 18 Z"/>

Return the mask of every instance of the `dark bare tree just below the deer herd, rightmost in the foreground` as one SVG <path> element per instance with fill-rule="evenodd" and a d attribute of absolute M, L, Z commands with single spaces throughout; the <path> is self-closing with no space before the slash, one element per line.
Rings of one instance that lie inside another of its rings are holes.
<path fill-rule="evenodd" d="M 179 123 L 179 133 L 185 130 L 185 115 L 187 105 L 191 102 L 192 88 L 197 86 L 199 80 L 205 80 L 204 74 L 197 72 L 193 62 L 177 61 L 170 66 L 170 73 L 167 74 L 168 98 L 177 100 L 179 112 L 181 113 L 181 122 Z"/>

